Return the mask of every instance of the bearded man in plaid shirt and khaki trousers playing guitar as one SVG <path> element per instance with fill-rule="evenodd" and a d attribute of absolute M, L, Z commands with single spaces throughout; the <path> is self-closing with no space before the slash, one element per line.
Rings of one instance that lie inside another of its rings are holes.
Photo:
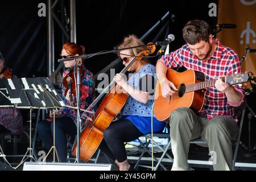
<path fill-rule="evenodd" d="M 222 46 L 217 39 L 213 39 L 209 24 L 203 20 L 189 21 L 183 28 L 183 39 L 187 44 L 162 56 L 156 64 L 162 96 L 171 97 L 179 89 L 167 79 L 168 68 L 184 66 L 203 72 L 206 80 L 217 80 L 205 90 L 204 104 L 199 112 L 179 107 L 170 114 L 171 146 L 174 154 L 172 170 L 189 170 L 189 142 L 195 138 L 205 140 L 209 151 L 216 152 L 214 170 L 230 170 L 231 140 L 238 134 L 234 107 L 243 102 L 244 90 L 221 78 L 241 73 L 238 55 L 233 49 Z"/>

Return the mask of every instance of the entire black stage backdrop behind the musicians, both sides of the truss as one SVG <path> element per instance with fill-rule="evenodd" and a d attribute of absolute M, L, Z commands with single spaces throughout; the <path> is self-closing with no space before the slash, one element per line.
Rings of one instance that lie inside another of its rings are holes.
<path fill-rule="evenodd" d="M 182 27 L 189 19 L 204 19 L 214 25 L 217 17 L 209 17 L 209 3 L 217 1 L 76 1 L 77 43 L 83 44 L 86 53 L 113 49 L 123 36 L 135 34 L 139 37 L 149 30 L 167 11 L 175 15 L 170 24 L 170 34 L 175 35 L 171 49 L 179 48 L 184 42 Z M 47 19 L 38 16 L 38 4 L 46 0 L 3 1 L 0 6 L 0 51 L 6 65 L 18 77 L 47 76 Z M 66 7 L 69 17 L 69 1 L 57 3 L 55 13 L 61 19 L 61 6 Z M 156 28 L 144 43 L 151 42 Z M 65 40 L 55 22 L 55 68 Z M 163 41 L 161 35 L 158 41 Z M 85 61 L 94 74 L 105 68 L 117 56 L 96 56 Z"/>

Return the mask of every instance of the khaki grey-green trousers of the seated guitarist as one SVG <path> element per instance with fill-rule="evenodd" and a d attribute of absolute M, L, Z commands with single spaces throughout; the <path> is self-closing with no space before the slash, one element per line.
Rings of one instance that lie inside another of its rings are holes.
<path fill-rule="evenodd" d="M 189 170 L 188 151 L 191 139 L 201 138 L 208 143 L 214 170 L 232 169 L 232 140 L 238 126 L 230 118 L 218 116 L 207 121 L 187 107 L 172 111 L 170 116 L 171 147 L 174 155 L 172 170 Z"/>

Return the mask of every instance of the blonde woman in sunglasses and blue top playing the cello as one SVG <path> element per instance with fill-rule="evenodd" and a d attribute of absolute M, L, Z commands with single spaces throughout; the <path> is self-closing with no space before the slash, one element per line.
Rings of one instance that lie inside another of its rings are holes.
<path fill-rule="evenodd" d="M 123 39 L 118 49 L 142 45 L 144 43 L 137 36 L 129 35 Z M 122 64 L 127 65 L 135 55 L 145 49 L 145 47 L 123 49 L 118 52 L 118 55 Z M 144 59 L 134 61 L 127 71 L 134 72 L 127 82 L 119 74 L 114 77 L 117 85 L 129 94 L 129 98 L 122 110 L 122 118 L 112 122 L 106 128 L 104 139 L 99 146 L 106 155 L 114 160 L 121 171 L 126 171 L 130 168 L 123 143 L 131 142 L 151 132 L 151 109 L 154 100 L 150 100 L 152 93 L 147 88 L 148 85 L 151 87 L 156 72 L 154 65 L 148 64 Z M 158 133 L 164 129 L 166 123 L 160 122 L 153 117 L 153 126 L 153 132 Z"/>

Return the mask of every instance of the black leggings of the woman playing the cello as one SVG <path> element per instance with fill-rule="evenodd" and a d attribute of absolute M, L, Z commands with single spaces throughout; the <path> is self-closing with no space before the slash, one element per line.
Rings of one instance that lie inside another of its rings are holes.
<path fill-rule="evenodd" d="M 121 119 L 112 122 L 104 131 L 104 139 L 99 148 L 112 160 L 121 163 L 127 159 L 124 142 L 131 142 L 142 135 L 132 122 Z"/>

